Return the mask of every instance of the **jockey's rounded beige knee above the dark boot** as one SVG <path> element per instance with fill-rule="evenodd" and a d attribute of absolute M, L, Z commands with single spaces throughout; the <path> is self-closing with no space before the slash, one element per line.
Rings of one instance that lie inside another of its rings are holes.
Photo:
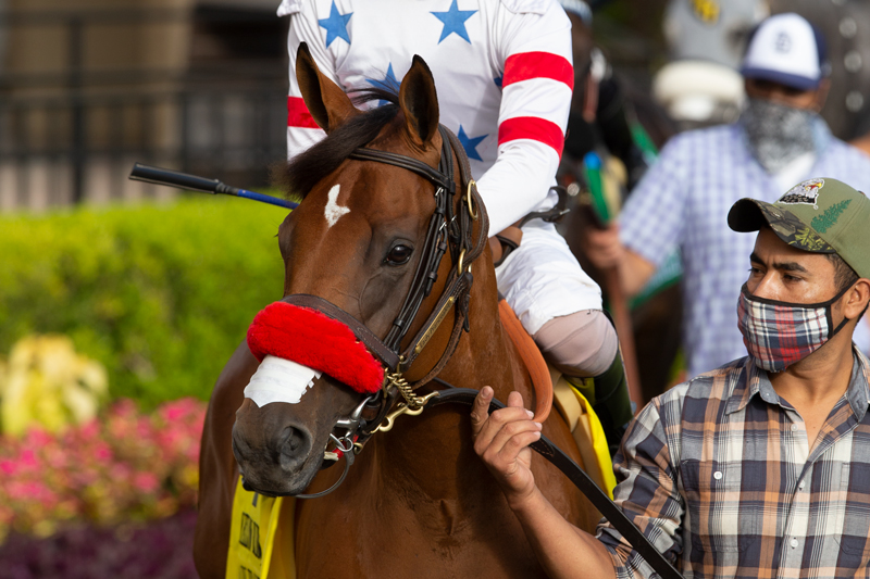
<path fill-rule="evenodd" d="M 619 350 L 617 331 L 600 310 L 552 318 L 534 338 L 547 362 L 566 376 L 575 378 L 604 374 Z"/>

